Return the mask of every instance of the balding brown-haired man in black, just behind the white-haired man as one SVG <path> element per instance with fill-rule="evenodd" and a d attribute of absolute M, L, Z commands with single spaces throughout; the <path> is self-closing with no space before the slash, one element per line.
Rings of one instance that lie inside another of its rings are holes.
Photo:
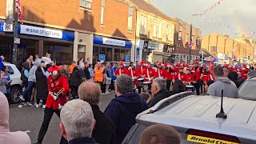
<path fill-rule="evenodd" d="M 96 120 L 92 134 L 95 141 L 104 144 L 114 144 L 114 123 L 98 107 L 102 96 L 100 86 L 94 82 L 83 82 L 78 88 L 78 96 L 83 101 L 89 102 L 92 107 Z"/>

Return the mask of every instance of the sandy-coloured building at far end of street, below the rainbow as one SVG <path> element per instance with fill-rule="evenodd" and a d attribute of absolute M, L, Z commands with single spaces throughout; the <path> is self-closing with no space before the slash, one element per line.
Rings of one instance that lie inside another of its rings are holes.
<path fill-rule="evenodd" d="M 202 38 L 202 49 L 210 52 L 219 63 L 254 62 L 254 40 L 244 36 L 230 38 L 217 33 Z M 250 59 L 248 59 L 250 58 Z"/>

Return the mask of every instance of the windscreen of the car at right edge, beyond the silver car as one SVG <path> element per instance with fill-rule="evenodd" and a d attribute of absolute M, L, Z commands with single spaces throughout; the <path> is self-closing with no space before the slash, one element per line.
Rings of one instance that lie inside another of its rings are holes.
<path fill-rule="evenodd" d="M 256 100 L 256 81 L 246 80 L 243 82 L 242 86 L 239 88 L 238 93 L 240 98 Z"/>

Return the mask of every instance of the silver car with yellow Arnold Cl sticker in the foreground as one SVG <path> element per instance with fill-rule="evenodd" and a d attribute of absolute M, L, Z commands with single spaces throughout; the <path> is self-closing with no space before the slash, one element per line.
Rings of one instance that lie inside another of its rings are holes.
<path fill-rule="evenodd" d="M 223 98 L 227 118 L 216 118 L 221 98 L 183 92 L 165 98 L 138 114 L 122 143 L 138 144 L 147 126 L 173 126 L 186 143 L 256 143 L 256 102 L 241 98 Z"/>

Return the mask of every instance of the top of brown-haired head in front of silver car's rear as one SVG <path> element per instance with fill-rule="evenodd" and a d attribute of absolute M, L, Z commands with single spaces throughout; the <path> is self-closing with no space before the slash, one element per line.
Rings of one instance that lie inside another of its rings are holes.
<path fill-rule="evenodd" d="M 143 130 L 139 144 L 181 144 L 182 137 L 171 126 L 156 124 Z"/>

